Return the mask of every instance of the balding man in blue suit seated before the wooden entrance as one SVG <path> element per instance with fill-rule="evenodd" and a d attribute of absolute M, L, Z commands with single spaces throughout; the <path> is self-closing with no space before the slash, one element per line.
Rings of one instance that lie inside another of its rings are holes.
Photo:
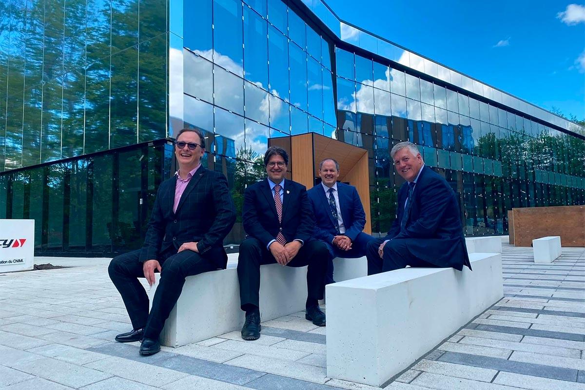
<path fill-rule="evenodd" d="M 374 237 L 363 233 L 366 213 L 357 189 L 337 182 L 339 163 L 325 158 L 319 164 L 321 185 L 307 191 L 315 215 L 314 237 L 329 251 L 325 284 L 334 283 L 333 258 L 358 258 L 366 255 L 366 246 Z"/>

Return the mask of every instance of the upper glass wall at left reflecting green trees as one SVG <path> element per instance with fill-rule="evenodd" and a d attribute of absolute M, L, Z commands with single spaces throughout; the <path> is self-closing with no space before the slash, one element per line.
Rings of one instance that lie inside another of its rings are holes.
<path fill-rule="evenodd" d="M 0 172 L 166 137 L 166 8 L 2 2 Z"/>

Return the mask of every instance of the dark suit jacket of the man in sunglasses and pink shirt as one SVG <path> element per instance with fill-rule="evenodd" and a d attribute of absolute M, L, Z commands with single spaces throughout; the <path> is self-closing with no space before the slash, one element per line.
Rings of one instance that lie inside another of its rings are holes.
<path fill-rule="evenodd" d="M 158 259 L 171 247 L 178 250 L 185 242 L 198 241 L 199 254 L 225 268 L 228 256 L 223 239 L 236 220 L 228 181 L 221 173 L 199 167 L 174 213 L 176 184 L 176 175 L 160 184 L 140 261 Z"/>

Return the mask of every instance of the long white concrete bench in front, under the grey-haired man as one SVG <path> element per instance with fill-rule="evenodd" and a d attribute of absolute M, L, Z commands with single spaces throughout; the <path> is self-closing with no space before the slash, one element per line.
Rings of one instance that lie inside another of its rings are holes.
<path fill-rule="evenodd" d="M 502 298 L 501 254 L 469 257 L 328 285 L 327 376 L 380 386 Z"/>

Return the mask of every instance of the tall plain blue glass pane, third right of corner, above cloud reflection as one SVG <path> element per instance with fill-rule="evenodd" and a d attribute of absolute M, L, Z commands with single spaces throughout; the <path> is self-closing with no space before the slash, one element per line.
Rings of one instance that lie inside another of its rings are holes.
<path fill-rule="evenodd" d="M 268 24 L 256 12 L 244 8 L 244 77 L 268 88 Z"/>

